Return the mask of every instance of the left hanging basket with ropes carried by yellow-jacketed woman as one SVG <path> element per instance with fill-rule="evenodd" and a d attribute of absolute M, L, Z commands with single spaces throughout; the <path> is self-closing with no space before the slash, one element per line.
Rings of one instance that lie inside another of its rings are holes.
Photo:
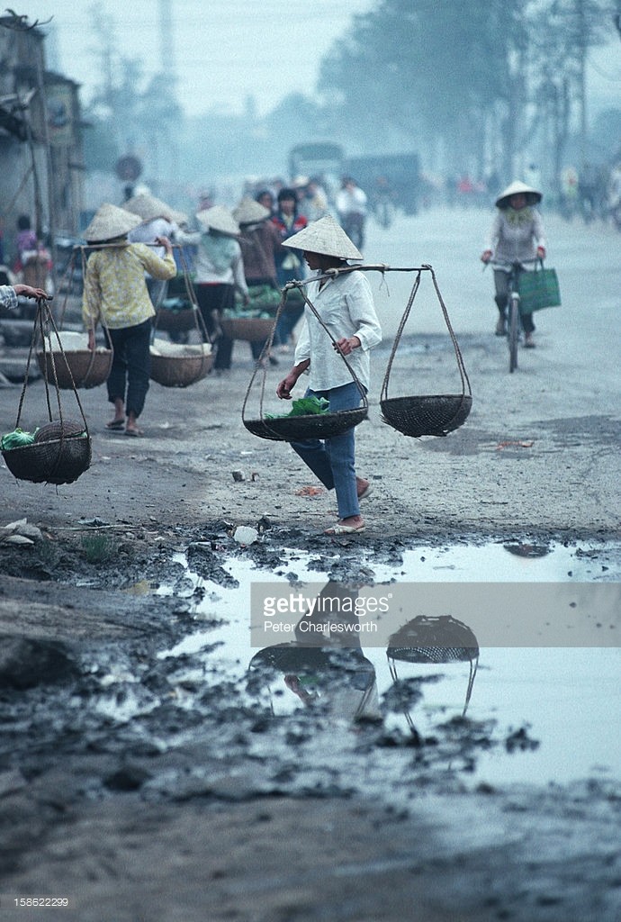
<path fill-rule="evenodd" d="M 68 293 L 72 290 L 73 285 L 76 251 L 80 251 L 81 254 L 82 278 L 86 277 L 87 259 L 85 249 L 83 246 L 74 247 L 71 260 L 67 266 L 61 329 L 64 322 Z M 54 355 L 54 353 L 56 354 Z M 41 374 L 47 380 L 52 379 L 57 382 L 61 390 L 73 390 L 75 387 L 98 387 L 100 384 L 104 384 L 111 372 L 113 352 L 112 349 L 64 349 L 60 353 L 60 357 L 61 361 L 59 361 L 58 352 L 53 349 L 51 342 L 49 349 L 40 349 L 37 352 L 37 361 L 39 362 Z M 55 361 L 55 373 L 53 361 Z"/>

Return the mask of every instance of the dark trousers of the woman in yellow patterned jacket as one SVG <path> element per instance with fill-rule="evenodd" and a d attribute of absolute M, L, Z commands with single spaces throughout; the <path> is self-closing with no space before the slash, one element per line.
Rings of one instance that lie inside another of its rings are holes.
<path fill-rule="evenodd" d="M 121 399 L 125 413 L 135 413 L 136 419 L 145 408 L 146 392 L 151 371 L 149 343 L 151 321 L 120 330 L 105 330 L 106 342 L 113 350 L 111 372 L 106 382 L 111 403 Z"/>

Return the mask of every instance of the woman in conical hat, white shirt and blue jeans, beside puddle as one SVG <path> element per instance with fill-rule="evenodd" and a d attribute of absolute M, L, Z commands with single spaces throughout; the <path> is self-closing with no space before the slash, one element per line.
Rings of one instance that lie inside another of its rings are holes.
<path fill-rule="evenodd" d="M 330 215 L 289 237 L 283 246 L 301 250 L 311 271 L 320 277 L 326 270 L 347 266 L 349 259 L 362 259 L 357 247 Z M 318 278 L 309 283 L 307 297 L 334 342 L 307 305 L 293 368 L 278 384 L 276 395 L 290 400 L 300 375 L 308 372 L 305 396 L 327 399 L 332 413 L 357 408 L 362 397 L 360 387 L 365 393 L 369 390 L 369 350 L 381 342 L 381 326 L 369 281 L 358 271 Z M 356 475 L 355 429 L 329 439 L 310 439 L 291 445 L 323 486 L 336 493 L 339 519 L 325 534 L 363 532 L 365 523 L 359 500 L 369 495 L 370 484 Z"/>

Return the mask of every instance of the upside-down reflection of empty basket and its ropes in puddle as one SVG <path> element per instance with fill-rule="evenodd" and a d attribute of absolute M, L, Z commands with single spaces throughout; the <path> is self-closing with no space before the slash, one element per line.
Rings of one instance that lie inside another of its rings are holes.
<path fill-rule="evenodd" d="M 479 645 L 475 633 L 451 615 L 419 615 L 407 621 L 388 641 L 386 656 L 393 682 L 398 687 L 396 662 L 469 663 L 470 674 L 462 716 L 465 716 L 475 684 Z M 406 715 L 407 716 L 407 715 Z"/>

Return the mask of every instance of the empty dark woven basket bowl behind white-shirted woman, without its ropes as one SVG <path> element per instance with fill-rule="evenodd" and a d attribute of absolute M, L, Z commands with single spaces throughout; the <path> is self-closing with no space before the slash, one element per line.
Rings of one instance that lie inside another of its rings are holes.
<path fill-rule="evenodd" d="M 384 421 L 404 435 L 447 435 L 467 419 L 468 394 L 391 397 L 380 401 Z"/>

